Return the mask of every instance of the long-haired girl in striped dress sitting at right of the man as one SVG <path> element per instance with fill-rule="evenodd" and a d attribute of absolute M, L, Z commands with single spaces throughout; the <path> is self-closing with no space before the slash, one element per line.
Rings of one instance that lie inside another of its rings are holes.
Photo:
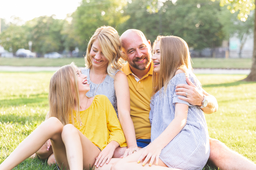
<path fill-rule="evenodd" d="M 192 73 L 187 43 L 175 36 L 158 36 L 153 47 L 151 143 L 116 162 L 112 169 L 202 170 L 210 154 L 204 114 L 199 106 L 178 99 L 175 93 L 175 86 L 187 84 L 186 77 L 201 89 Z"/>

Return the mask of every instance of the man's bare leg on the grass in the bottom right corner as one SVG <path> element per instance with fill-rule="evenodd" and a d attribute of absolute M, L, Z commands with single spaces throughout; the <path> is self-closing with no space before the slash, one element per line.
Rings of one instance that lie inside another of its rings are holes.
<path fill-rule="evenodd" d="M 209 140 L 211 148 L 209 160 L 221 170 L 256 169 L 256 164 L 229 149 L 224 143 L 217 139 L 210 138 Z"/>

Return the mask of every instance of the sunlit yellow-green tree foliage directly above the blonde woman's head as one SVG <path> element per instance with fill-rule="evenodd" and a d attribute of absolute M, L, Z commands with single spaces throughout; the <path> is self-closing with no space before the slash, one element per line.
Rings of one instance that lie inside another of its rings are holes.
<path fill-rule="evenodd" d="M 83 0 L 81 6 L 72 14 L 74 30 L 79 36 L 80 50 L 85 51 L 94 31 L 103 25 L 116 28 L 129 16 L 123 16 L 124 0 Z"/>

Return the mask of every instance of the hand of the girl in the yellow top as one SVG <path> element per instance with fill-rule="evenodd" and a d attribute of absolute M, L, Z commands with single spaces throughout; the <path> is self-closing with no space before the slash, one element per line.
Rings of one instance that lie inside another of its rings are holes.
<path fill-rule="evenodd" d="M 95 165 L 98 168 L 99 166 L 103 166 L 103 164 L 106 162 L 109 163 L 110 159 L 112 158 L 115 149 L 119 146 L 119 143 L 112 140 L 99 154 L 99 156 L 95 161 Z"/>

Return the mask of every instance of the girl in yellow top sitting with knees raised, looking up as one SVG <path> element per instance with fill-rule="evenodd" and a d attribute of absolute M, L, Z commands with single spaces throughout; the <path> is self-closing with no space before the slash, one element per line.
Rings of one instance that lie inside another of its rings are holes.
<path fill-rule="evenodd" d="M 127 146 L 108 98 L 86 96 L 90 90 L 86 78 L 73 63 L 54 73 L 49 86 L 49 119 L 21 142 L 0 164 L 0 170 L 13 169 L 49 138 L 57 164 L 70 170 L 89 169 L 96 157 L 97 162 L 108 163 L 119 145 Z"/>

